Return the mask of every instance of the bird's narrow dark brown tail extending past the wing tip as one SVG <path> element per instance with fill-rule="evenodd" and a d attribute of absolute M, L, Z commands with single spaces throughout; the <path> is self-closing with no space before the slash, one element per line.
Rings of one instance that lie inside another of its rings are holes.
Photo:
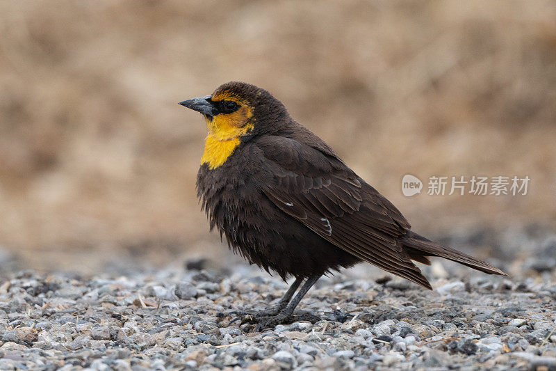
<path fill-rule="evenodd" d="M 407 235 L 403 237 L 402 244 L 411 260 L 415 260 L 416 262 L 422 262 L 426 265 L 430 265 L 430 260 L 428 259 L 429 256 L 440 256 L 441 258 L 446 258 L 448 260 L 452 260 L 453 262 L 459 262 L 460 264 L 477 269 L 477 271 L 507 276 L 507 274 L 503 271 L 489 265 L 489 263 L 475 259 L 473 256 L 461 253 L 454 248 L 442 246 L 441 244 L 432 242 L 430 239 L 426 239 L 415 232 L 411 232 L 411 230 L 408 231 Z"/>

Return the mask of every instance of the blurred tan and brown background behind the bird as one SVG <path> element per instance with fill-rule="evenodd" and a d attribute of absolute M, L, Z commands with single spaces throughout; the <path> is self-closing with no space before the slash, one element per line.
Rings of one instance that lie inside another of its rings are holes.
<path fill-rule="evenodd" d="M 227 257 L 195 198 L 204 120 L 177 102 L 230 80 L 270 90 L 414 230 L 526 256 L 556 224 L 555 19 L 534 0 L 2 1 L 0 264 Z M 531 181 L 407 198 L 407 173 Z"/>

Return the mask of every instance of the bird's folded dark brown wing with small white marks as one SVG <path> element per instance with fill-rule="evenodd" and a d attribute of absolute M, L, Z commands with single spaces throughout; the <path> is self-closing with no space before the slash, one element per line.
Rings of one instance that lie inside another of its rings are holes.
<path fill-rule="evenodd" d="M 398 240 L 409 223 L 340 159 L 283 136 L 257 146 L 265 157 L 257 181 L 280 210 L 352 255 L 431 288 Z"/>

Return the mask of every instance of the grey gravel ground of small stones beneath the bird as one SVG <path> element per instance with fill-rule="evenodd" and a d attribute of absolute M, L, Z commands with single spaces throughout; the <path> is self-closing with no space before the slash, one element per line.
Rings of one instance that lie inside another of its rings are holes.
<path fill-rule="evenodd" d="M 245 265 L 195 265 L 0 281 L 0 369 L 556 370 L 553 271 L 457 281 L 433 265 L 430 292 L 359 265 L 321 278 L 302 301 L 320 321 L 256 333 L 226 312 L 265 308 L 286 284 Z"/>

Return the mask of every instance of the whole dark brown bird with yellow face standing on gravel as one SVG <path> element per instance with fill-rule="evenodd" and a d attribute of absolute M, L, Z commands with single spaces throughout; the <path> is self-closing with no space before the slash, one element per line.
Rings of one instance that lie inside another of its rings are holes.
<path fill-rule="evenodd" d="M 250 313 L 257 329 L 295 319 L 297 304 L 322 275 L 359 262 L 429 290 L 414 262 L 430 265 L 430 257 L 506 276 L 412 231 L 389 200 L 267 90 L 230 81 L 179 104 L 202 113 L 208 129 L 196 188 L 210 229 L 250 264 L 284 281 L 295 278 L 275 306 Z"/>

